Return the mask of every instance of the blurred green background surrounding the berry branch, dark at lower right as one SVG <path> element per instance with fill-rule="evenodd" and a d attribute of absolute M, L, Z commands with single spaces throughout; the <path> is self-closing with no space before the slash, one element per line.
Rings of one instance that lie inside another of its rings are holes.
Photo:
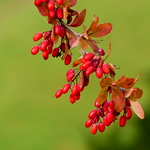
<path fill-rule="evenodd" d="M 113 31 L 102 38 L 101 47 L 112 42 L 107 62 L 118 67 L 117 77 L 136 77 L 144 90 L 140 103 L 146 117 L 133 115 L 124 128 L 112 124 L 104 133 L 91 135 L 84 127 L 87 114 L 100 90 L 99 81 L 71 105 L 68 96 L 54 97 L 65 84 L 64 67 L 58 59 L 44 61 L 32 56 L 32 36 L 49 29 L 33 0 L 0 0 L 0 150 L 148 150 L 150 147 L 150 1 L 78 0 L 75 9 L 87 8 L 85 25 L 93 15 L 111 22 Z M 79 29 L 80 30 L 80 29 Z M 95 87 L 95 88 L 93 88 Z"/>

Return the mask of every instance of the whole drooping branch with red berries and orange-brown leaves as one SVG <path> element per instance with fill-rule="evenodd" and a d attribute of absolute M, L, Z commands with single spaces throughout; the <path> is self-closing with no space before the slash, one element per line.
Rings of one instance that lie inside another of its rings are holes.
<path fill-rule="evenodd" d="M 52 27 L 49 31 L 33 36 L 34 41 L 43 39 L 31 49 L 33 55 L 41 52 L 44 60 L 49 59 L 50 55 L 60 57 L 65 65 L 69 65 L 73 55 L 71 50 L 77 46 L 81 47 L 80 58 L 76 59 L 72 68 L 67 71 L 67 83 L 55 93 L 55 97 L 59 98 L 70 91 L 69 101 L 75 103 L 89 85 L 90 75 L 95 73 L 95 77 L 100 79 L 101 90 L 94 101 L 95 109 L 89 113 L 85 122 L 85 127 L 90 127 L 92 134 L 96 134 L 98 130 L 103 132 L 106 126 L 116 120 L 119 120 L 121 127 L 125 126 L 127 120 L 132 117 L 132 110 L 143 119 L 144 111 L 138 102 L 143 91 L 134 87 L 140 74 L 135 79 L 122 76 L 115 81 L 116 66 L 105 62 L 111 52 L 111 43 L 109 42 L 105 56 L 104 49 L 93 39 L 109 34 L 112 30 L 111 23 L 99 24 L 99 17 L 94 16 L 88 29 L 83 25 L 83 33 L 76 33 L 72 28 L 81 26 L 86 16 L 86 9 L 80 13 L 72 9 L 76 3 L 77 0 L 34 1 L 40 14 L 47 17 Z M 89 47 L 92 52 L 88 51 Z"/>

